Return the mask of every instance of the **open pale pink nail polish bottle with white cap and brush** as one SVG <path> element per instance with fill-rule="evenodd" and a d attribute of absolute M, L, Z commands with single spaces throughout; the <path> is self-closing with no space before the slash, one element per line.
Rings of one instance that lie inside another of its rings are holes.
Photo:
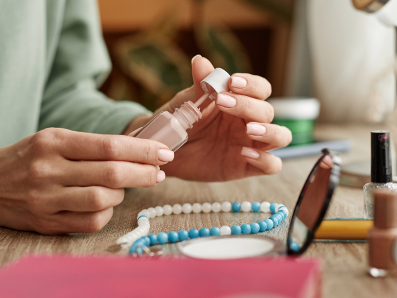
<path fill-rule="evenodd" d="M 228 87 L 230 75 L 224 70 L 217 68 L 208 74 L 201 82 L 200 86 L 205 92 L 196 103 L 186 101 L 180 108 L 176 108 L 174 113 L 161 112 L 144 127 L 133 135 L 140 139 L 158 141 L 168 146 L 172 151 L 181 148 L 188 141 L 187 130 L 201 119 L 199 105 L 207 98 L 216 99 L 216 95 L 222 91 L 230 91 Z"/>

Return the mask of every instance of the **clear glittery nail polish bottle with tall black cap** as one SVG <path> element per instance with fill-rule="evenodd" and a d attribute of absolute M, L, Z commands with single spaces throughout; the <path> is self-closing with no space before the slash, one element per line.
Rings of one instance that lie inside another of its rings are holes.
<path fill-rule="evenodd" d="M 364 218 L 374 216 L 373 191 L 376 189 L 397 190 L 392 182 L 392 156 L 390 153 L 390 132 L 371 132 L 371 182 L 364 185 Z"/>

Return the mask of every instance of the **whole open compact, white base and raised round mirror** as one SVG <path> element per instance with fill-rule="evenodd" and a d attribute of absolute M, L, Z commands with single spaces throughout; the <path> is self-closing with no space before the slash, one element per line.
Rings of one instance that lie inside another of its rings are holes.
<path fill-rule="evenodd" d="M 340 158 L 323 149 L 296 203 L 285 245 L 261 235 L 230 235 L 191 239 L 177 243 L 180 254 L 199 259 L 236 259 L 287 253 L 302 254 L 310 245 L 339 183 Z"/>

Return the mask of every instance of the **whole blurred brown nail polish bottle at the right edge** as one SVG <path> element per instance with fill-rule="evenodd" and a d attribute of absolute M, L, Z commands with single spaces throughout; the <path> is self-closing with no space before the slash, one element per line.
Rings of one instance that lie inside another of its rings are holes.
<path fill-rule="evenodd" d="M 368 231 L 369 273 L 373 277 L 397 274 L 397 192 L 374 191 L 374 226 Z"/>

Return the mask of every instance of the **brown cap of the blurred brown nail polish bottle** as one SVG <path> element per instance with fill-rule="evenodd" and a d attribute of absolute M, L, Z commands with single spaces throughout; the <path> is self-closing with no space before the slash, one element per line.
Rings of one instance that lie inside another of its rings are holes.
<path fill-rule="evenodd" d="M 397 227 L 397 192 L 374 190 L 374 225 L 379 228 Z"/>

